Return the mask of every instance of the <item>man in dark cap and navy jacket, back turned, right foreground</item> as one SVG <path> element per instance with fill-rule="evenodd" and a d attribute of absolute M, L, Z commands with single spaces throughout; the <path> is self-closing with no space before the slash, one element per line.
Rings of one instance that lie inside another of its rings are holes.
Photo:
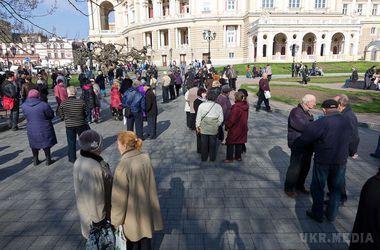
<path fill-rule="evenodd" d="M 347 158 L 354 156 L 351 145 L 352 127 L 339 113 L 338 105 L 333 99 L 325 100 L 322 103 L 325 116 L 310 123 L 294 142 L 294 148 L 298 150 L 313 146 L 314 166 L 310 186 L 313 206 L 306 214 L 320 223 L 323 222 L 324 214 L 329 221 L 335 220 Z M 327 180 L 331 181 L 330 200 L 324 212 L 324 188 Z"/>

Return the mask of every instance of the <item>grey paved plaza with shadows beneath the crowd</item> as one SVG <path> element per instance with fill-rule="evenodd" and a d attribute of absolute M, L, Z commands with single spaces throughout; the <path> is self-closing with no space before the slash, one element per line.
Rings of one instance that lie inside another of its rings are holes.
<path fill-rule="evenodd" d="M 185 125 L 183 97 L 159 104 L 159 136 L 143 146 L 154 166 L 165 224 L 154 249 L 346 249 L 360 190 L 379 165 L 369 156 L 379 132 L 359 129 L 360 157 L 347 166 L 348 202 L 334 223 L 319 224 L 305 214 L 311 197 L 290 199 L 282 191 L 290 156 L 287 116 L 255 112 L 256 96 L 249 99 L 247 153 L 233 164 L 221 163 L 223 145 L 216 162 L 200 161 L 195 134 Z M 103 113 L 104 121 L 91 128 L 102 134 L 102 156 L 114 170 L 120 159 L 116 134 L 125 126 L 108 110 Z M 58 161 L 49 167 L 32 165 L 25 129 L 0 133 L 0 249 L 84 248 L 64 123 L 56 120 L 55 130 Z"/>

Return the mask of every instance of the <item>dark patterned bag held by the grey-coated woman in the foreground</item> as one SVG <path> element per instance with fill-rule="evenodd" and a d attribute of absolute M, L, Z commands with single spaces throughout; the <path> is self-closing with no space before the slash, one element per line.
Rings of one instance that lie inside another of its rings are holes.
<path fill-rule="evenodd" d="M 86 242 L 87 250 L 113 250 L 115 249 L 115 235 L 113 227 L 107 219 L 90 225 L 90 233 Z"/>

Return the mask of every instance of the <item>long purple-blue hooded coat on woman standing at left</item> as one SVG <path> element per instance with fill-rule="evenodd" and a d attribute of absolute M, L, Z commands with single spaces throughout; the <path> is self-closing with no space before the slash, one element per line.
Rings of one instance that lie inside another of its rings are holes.
<path fill-rule="evenodd" d="M 50 148 L 57 144 L 53 123 L 54 111 L 38 98 L 28 98 L 21 105 L 26 117 L 29 145 L 34 149 Z"/>

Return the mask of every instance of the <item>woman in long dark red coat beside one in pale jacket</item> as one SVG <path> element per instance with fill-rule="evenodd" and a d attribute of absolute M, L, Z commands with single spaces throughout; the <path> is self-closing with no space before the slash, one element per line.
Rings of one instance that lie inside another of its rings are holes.
<path fill-rule="evenodd" d="M 231 163 L 233 160 L 241 161 L 241 153 L 244 143 L 247 142 L 248 135 L 248 103 L 244 100 L 244 94 L 235 93 L 235 104 L 231 108 L 230 116 L 226 123 L 228 131 L 226 138 L 227 159 L 224 163 Z M 235 151 L 235 158 L 234 158 Z"/>

